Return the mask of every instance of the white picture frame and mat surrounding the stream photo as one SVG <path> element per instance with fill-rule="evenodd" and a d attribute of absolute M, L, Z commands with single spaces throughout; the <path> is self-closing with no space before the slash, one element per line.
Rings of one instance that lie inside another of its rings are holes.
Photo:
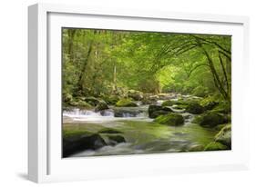
<path fill-rule="evenodd" d="M 249 69 L 247 17 L 36 4 L 28 8 L 28 24 L 29 180 L 61 182 L 249 168 L 249 122 L 245 120 L 242 100 L 246 97 L 242 80 L 247 79 Z M 63 26 L 232 34 L 232 150 L 221 153 L 161 153 L 63 160 L 59 131 L 59 29 Z"/>

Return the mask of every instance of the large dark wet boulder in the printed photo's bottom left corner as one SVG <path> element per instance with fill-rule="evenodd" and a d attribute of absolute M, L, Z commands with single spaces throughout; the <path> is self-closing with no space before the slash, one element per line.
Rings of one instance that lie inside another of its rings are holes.
<path fill-rule="evenodd" d="M 63 134 L 63 157 L 84 150 L 96 150 L 107 145 L 98 133 L 65 130 Z"/>

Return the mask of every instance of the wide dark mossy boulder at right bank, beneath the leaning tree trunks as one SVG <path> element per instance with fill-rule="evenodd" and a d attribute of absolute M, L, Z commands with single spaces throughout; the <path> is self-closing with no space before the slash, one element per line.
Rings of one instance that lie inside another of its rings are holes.
<path fill-rule="evenodd" d="M 218 124 L 228 123 L 229 117 L 222 113 L 203 113 L 198 115 L 193 120 L 193 123 L 199 123 L 201 126 L 204 127 L 216 127 Z"/>

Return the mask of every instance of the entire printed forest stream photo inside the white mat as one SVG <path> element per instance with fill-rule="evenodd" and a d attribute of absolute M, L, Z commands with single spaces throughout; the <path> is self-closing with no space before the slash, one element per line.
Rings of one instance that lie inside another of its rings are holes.
<path fill-rule="evenodd" d="M 62 36 L 64 157 L 231 149 L 231 36 Z"/>

